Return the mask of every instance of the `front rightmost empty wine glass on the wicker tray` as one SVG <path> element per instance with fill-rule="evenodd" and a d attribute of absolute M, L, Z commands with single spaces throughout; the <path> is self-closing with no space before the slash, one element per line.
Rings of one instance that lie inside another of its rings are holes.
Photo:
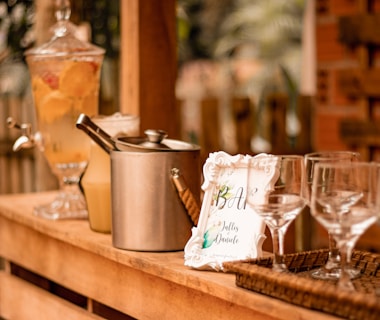
<path fill-rule="evenodd" d="M 312 216 L 334 237 L 340 251 L 338 286 L 354 290 L 348 266 L 358 238 L 377 220 L 379 165 L 369 162 L 317 163 Z"/>

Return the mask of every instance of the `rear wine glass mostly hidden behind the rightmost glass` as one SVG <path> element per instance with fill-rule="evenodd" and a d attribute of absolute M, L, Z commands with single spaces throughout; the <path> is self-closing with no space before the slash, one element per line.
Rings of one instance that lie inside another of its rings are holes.
<path fill-rule="evenodd" d="M 309 195 L 311 194 L 311 184 L 313 181 L 313 169 L 316 163 L 332 163 L 332 162 L 352 162 L 359 161 L 360 155 L 353 151 L 320 151 L 305 154 L 305 168 Z M 309 199 L 310 200 L 310 199 Z M 314 270 L 311 275 L 316 279 L 338 279 L 340 274 L 340 254 L 336 246 L 335 240 L 329 233 L 329 255 L 326 264 L 322 268 Z M 350 271 L 351 277 L 358 275 L 356 269 Z"/>

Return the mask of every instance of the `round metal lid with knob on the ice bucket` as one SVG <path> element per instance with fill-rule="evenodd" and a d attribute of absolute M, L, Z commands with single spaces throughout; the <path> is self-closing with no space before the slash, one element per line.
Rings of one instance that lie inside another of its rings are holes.
<path fill-rule="evenodd" d="M 200 147 L 179 140 L 166 139 L 164 130 L 148 129 L 144 131 L 146 137 L 118 137 L 116 147 L 119 150 L 134 150 L 140 152 L 151 151 L 191 151 L 199 150 Z"/>

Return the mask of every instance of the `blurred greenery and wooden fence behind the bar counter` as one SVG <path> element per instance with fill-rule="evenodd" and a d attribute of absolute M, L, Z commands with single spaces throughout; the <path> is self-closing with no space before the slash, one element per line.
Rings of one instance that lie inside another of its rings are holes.
<path fill-rule="evenodd" d="M 54 1 L 3 0 L 0 5 L 0 67 L 4 69 L 0 72 L 0 100 L 4 104 L 0 121 L 5 123 L 13 116 L 18 122 L 33 122 L 23 52 L 50 39 Z M 112 114 L 119 110 L 120 3 L 79 0 L 71 6 L 71 21 L 80 36 L 106 49 L 99 112 Z M 301 135 L 298 117 L 304 8 L 304 0 L 177 1 L 179 138 L 200 144 L 204 159 L 218 150 L 234 154 L 310 149 L 309 136 Z M 7 68 L 14 72 L 7 72 Z M 273 111 L 280 121 L 271 117 Z M 7 159 L 26 157 L 28 161 L 23 161 L 19 173 L 36 171 L 31 179 L 26 173 L 23 179 L 2 179 L 1 190 L 27 192 L 54 187 L 55 178 L 45 173 L 49 171 L 45 164 L 38 164 L 44 159 L 38 159 L 34 170 L 33 158 L 40 156 L 33 150 L 9 154 L 18 132 L 5 126 L 1 130 Z M 5 175 L 13 165 L 14 161 L 3 164 L 0 170 Z M 41 175 L 43 179 L 38 178 Z"/>

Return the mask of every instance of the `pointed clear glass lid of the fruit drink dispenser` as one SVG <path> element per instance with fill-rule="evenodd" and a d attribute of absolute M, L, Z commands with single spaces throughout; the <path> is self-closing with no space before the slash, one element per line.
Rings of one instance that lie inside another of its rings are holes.
<path fill-rule="evenodd" d="M 56 0 L 56 24 L 53 26 L 54 35 L 39 47 L 25 52 L 26 56 L 67 56 L 67 55 L 104 55 L 105 50 L 75 37 L 75 25 L 69 19 L 71 7 L 69 0 Z"/>

